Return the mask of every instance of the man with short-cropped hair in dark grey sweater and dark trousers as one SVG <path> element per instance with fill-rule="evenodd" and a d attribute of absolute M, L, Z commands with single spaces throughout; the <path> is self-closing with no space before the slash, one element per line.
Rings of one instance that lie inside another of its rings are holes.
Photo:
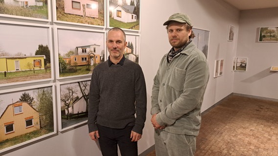
<path fill-rule="evenodd" d="M 137 141 L 146 120 L 146 84 L 141 67 L 125 59 L 127 45 L 122 29 L 107 34 L 109 58 L 93 69 L 88 127 L 99 141 L 103 156 L 138 156 Z M 136 116 L 135 116 L 136 114 Z"/>

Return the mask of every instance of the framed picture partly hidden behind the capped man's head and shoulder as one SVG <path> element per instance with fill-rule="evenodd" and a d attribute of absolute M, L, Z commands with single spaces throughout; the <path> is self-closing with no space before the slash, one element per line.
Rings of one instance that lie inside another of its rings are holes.
<path fill-rule="evenodd" d="M 200 49 L 208 59 L 209 52 L 209 31 L 197 28 L 192 28 L 195 37 L 192 39 L 196 44 L 197 48 Z"/>

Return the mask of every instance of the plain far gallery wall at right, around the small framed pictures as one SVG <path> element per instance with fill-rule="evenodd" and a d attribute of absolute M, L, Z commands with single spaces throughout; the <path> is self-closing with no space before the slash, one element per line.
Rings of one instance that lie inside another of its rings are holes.
<path fill-rule="evenodd" d="M 247 57 L 247 71 L 234 73 L 234 93 L 278 99 L 278 42 L 258 42 L 259 27 L 278 27 L 278 8 L 241 11 L 237 57 Z"/>

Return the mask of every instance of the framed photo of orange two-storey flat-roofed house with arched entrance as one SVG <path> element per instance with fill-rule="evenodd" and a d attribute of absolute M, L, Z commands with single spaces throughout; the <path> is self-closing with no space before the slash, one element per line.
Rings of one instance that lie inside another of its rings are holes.
<path fill-rule="evenodd" d="M 56 76 L 89 76 L 104 61 L 104 31 L 54 27 Z"/>

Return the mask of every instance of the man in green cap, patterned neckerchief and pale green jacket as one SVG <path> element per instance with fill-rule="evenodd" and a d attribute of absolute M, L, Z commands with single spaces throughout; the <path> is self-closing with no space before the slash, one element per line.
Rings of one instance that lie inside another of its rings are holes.
<path fill-rule="evenodd" d="M 172 48 L 162 57 L 152 88 L 156 155 L 194 156 L 208 62 L 192 42 L 195 36 L 187 15 L 173 14 L 163 25 Z"/>

